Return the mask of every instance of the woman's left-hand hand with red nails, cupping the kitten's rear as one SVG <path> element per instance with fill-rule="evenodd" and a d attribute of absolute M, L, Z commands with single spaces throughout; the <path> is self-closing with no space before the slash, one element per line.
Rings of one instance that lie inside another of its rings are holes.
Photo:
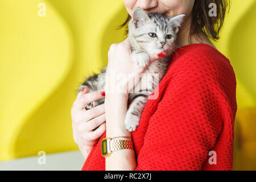
<path fill-rule="evenodd" d="M 89 110 L 85 110 L 85 106 L 101 98 L 104 98 L 101 92 L 88 93 L 88 88 L 85 88 L 77 94 L 71 109 L 73 138 L 85 159 L 106 130 L 105 104 Z M 93 131 L 97 126 L 99 127 Z"/>

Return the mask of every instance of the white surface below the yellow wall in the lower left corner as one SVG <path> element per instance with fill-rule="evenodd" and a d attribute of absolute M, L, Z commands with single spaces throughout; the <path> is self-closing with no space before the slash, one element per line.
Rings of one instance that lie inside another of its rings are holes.
<path fill-rule="evenodd" d="M 80 171 L 84 164 L 84 158 L 80 151 L 61 152 L 56 154 L 46 154 L 46 164 L 39 164 L 41 156 L 31 156 L 0 162 L 1 171 Z M 42 160 L 41 160 L 42 161 Z"/>

